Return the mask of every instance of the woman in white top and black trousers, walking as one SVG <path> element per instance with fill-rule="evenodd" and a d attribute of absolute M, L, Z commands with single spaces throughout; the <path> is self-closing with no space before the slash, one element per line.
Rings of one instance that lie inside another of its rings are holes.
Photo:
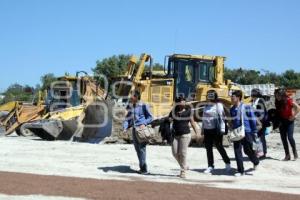
<path fill-rule="evenodd" d="M 204 133 L 204 144 L 208 162 L 208 168 L 204 173 L 211 174 L 214 170 L 214 144 L 225 162 L 226 171 L 230 172 L 230 159 L 223 146 L 223 135 L 226 134 L 224 107 L 219 102 L 218 93 L 214 90 L 207 92 L 207 101 L 208 103 L 203 110 L 202 120 L 202 131 Z"/>

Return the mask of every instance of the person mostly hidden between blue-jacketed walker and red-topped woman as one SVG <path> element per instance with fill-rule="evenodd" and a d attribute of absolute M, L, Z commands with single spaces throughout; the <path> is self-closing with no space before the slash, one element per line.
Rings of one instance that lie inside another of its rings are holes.
<path fill-rule="evenodd" d="M 271 126 L 271 124 L 268 119 L 268 110 L 267 110 L 265 100 L 262 98 L 262 93 L 259 89 L 253 89 L 251 91 L 251 100 L 252 100 L 252 106 L 254 108 L 255 116 L 257 117 L 259 123 L 261 124 L 257 136 L 259 137 L 262 143 L 263 155 L 260 158 L 263 159 L 266 158 L 267 156 L 266 131 L 267 128 Z"/>

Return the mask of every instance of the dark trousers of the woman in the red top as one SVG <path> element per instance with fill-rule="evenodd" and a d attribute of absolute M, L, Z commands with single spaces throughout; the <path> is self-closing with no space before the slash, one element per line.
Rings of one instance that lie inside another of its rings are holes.
<path fill-rule="evenodd" d="M 293 153 L 295 154 L 296 142 L 294 139 L 294 121 L 283 120 L 279 127 L 279 130 L 280 130 L 280 136 L 284 147 L 285 155 L 286 156 L 290 155 L 288 141 L 290 142 Z"/>

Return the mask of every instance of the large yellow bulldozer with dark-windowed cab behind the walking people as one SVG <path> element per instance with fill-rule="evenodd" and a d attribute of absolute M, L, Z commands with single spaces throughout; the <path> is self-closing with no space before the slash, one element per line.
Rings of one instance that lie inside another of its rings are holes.
<path fill-rule="evenodd" d="M 157 133 L 158 126 L 168 117 L 178 96 L 187 99 L 199 119 L 207 91 L 215 90 L 228 113 L 231 93 L 241 89 L 230 80 L 224 80 L 225 60 L 223 56 L 173 54 L 165 57 L 163 71 L 156 72 L 152 69 L 150 55 L 142 54 L 139 59 L 133 56 L 126 73 L 115 78 L 112 96 L 117 105 L 126 105 L 131 92 L 140 91 L 141 101 L 150 106 L 154 116 L 152 125 L 156 126 Z M 250 99 L 244 98 L 244 101 L 250 102 Z"/>

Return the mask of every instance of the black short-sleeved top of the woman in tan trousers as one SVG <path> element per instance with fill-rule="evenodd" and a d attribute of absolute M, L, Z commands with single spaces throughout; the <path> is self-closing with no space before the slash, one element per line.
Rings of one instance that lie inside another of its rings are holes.
<path fill-rule="evenodd" d="M 175 136 L 182 136 L 191 132 L 189 126 L 192 116 L 191 114 L 191 109 L 170 113 L 169 116 L 173 119 L 173 130 Z"/>

